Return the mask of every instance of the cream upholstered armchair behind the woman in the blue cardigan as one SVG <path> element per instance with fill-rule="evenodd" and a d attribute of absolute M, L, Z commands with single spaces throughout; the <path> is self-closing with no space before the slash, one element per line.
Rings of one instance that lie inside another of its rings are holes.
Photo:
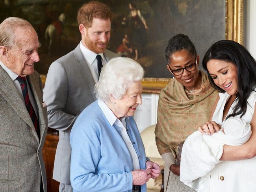
<path fill-rule="evenodd" d="M 148 157 L 151 161 L 159 164 L 160 169 L 163 170 L 165 162 L 163 161 L 161 155 L 158 153 L 158 149 L 156 147 L 155 127 L 156 125 L 147 127 L 144 131 L 141 132 L 141 138 L 145 146 L 146 157 Z M 160 190 L 163 191 L 162 177 L 162 174 L 160 174 L 160 176 L 156 179 L 149 179 L 147 183 L 147 192 L 160 192 Z"/>

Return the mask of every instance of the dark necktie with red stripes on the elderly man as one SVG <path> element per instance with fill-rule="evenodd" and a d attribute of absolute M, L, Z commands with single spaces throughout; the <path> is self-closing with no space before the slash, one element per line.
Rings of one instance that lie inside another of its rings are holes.
<path fill-rule="evenodd" d="M 16 79 L 20 82 L 22 94 L 23 94 L 23 97 L 24 97 L 24 100 L 26 103 L 26 108 L 27 108 L 30 118 L 35 126 L 35 131 L 37 132 L 37 135 L 40 138 L 39 123 L 38 123 L 37 116 L 35 114 L 35 111 L 33 109 L 33 106 L 31 104 L 29 96 L 28 96 L 28 86 L 27 86 L 27 82 L 26 82 L 26 77 L 18 76 Z"/>

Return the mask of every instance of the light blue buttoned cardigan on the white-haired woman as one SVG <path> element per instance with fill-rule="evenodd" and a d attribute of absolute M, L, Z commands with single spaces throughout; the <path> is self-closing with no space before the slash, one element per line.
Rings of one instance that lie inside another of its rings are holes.
<path fill-rule="evenodd" d="M 145 169 L 145 149 L 133 117 L 126 117 L 126 128 Z M 73 192 L 131 192 L 133 162 L 121 130 L 111 126 L 98 100 L 78 116 L 70 134 L 70 180 Z M 146 184 L 141 192 L 146 192 Z"/>

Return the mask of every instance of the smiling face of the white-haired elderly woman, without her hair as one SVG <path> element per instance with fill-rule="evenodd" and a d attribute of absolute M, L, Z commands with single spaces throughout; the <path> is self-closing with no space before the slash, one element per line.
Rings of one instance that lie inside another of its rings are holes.
<path fill-rule="evenodd" d="M 127 90 L 121 99 L 111 97 L 112 112 L 117 118 L 123 116 L 133 116 L 138 105 L 142 104 L 141 100 L 142 86 L 141 81 L 128 83 Z"/>

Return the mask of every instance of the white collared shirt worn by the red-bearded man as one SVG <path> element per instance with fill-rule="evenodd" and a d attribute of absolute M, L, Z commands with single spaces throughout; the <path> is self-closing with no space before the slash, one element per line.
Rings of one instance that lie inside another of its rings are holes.
<path fill-rule="evenodd" d="M 87 49 L 85 46 L 83 46 L 82 41 L 80 41 L 80 49 L 82 51 L 83 57 L 87 61 L 87 65 L 91 71 L 91 75 L 93 76 L 93 80 L 95 83 L 98 82 L 99 75 L 98 75 L 98 61 L 97 61 L 97 54 L 95 52 L 92 52 L 91 50 Z M 98 55 L 101 56 L 102 65 L 105 66 L 107 64 L 107 60 L 104 57 L 103 53 L 99 53 Z"/>

